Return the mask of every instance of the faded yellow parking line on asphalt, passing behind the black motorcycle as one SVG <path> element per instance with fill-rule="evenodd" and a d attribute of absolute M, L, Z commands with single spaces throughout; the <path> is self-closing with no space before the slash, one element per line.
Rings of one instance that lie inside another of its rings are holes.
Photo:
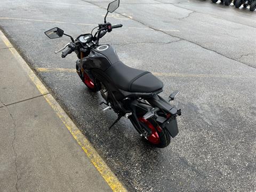
<path fill-rule="evenodd" d="M 76 73 L 76 69 L 68 68 L 35 68 L 38 72 L 60 72 L 60 73 Z M 256 76 L 243 75 L 222 75 L 222 74 L 185 74 L 185 73 L 159 73 L 152 72 L 155 76 L 163 77 L 205 77 L 205 78 L 256 78 Z"/>

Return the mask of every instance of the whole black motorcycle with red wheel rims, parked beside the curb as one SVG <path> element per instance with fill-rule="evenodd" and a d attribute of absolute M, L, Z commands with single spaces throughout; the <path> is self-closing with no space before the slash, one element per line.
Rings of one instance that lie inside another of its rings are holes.
<path fill-rule="evenodd" d="M 148 71 L 124 65 L 113 46 L 99 44 L 106 33 L 122 27 L 122 24 L 111 25 L 106 21 L 107 14 L 114 12 L 118 6 L 119 0 L 109 3 L 104 23 L 96 27 L 94 35 L 83 34 L 74 39 L 58 27 L 45 31 L 45 35 L 51 39 L 63 35 L 71 38 L 72 42 L 55 53 L 66 47 L 62 58 L 76 53 L 76 71 L 83 83 L 93 92 L 100 91 L 105 100 L 100 105 L 106 105 L 103 110 L 113 109 L 118 115 L 109 129 L 121 117 L 129 118 L 141 137 L 153 146 L 164 148 L 179 132 L 176 117 L 181 115 L 181 110 L 169 103 L 179 92 L 173 92 L 166 101 L 158 95 L 163 91 L 163 83 L 157 77 Z"/>

